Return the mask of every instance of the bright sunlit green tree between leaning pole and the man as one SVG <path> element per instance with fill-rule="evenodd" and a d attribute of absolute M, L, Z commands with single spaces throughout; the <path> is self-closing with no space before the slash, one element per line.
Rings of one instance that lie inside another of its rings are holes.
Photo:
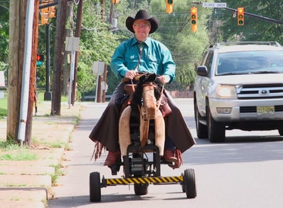
<path fill-rule="evenodd" d="M 80 54 L 78 60 L 78 92 L 93 92 L 96 74 L 92 72 L 93 61 L 109 65 L 119 36 L 112 34 L 110 25 L 102 21 L 97 1 L 85 1 L 82 14 Z"/>

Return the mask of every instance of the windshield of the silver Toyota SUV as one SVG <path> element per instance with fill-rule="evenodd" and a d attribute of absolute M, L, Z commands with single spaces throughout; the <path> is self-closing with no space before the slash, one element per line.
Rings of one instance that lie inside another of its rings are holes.
<path fill-rule="evenodd" d="M 283 73 L 283 51 L 246 51 L 218 54 L 216 75 Z"/>

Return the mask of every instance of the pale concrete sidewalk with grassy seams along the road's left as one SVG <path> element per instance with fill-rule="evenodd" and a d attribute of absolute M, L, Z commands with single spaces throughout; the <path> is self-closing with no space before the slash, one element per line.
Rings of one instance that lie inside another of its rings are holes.
<path fill-rule="evenodd" d="M 32 120 L 31 149 L 0 149 L 0 207 L 41 208 L 53 197 L 56 169 L 69 149 L 71 133 L 80 117 L 83 103 L 61 103 L 61 116 L 49 116 L 51 101 L 38 103 L 38 114 Z M 5 140 L 7 120 L 0 120 L 0 141 Z M 34 160 L 14 160 L 25 154 Z M 59 173 L 60 174 L 60 173 Z M 61 173 L 64 174 L 64 173 Z"/>

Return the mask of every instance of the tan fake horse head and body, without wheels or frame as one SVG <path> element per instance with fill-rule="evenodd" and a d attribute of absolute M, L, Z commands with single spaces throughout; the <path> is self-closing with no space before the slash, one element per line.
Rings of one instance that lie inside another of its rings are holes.
<path fill-rule="evenodd" d="M 159 155 L 163 155 L 166 133 L 164 118 L 157 101 L 160 93 L 157 93 L 156 85 L 153 84 L 156 78 L 156 74 L 142 74 L 133 92 L 131 105 L 122 111 L 119 122 L 119 143 L 122 156 L 128 154 L 128 147 L 133 143 L 131 139 L 131 116 L 133 115 L 139 117 L 139 149 L 153 142 L 159 148 Z M 151 121 L 154 121 L 154 141 L 148 141 Z"/>

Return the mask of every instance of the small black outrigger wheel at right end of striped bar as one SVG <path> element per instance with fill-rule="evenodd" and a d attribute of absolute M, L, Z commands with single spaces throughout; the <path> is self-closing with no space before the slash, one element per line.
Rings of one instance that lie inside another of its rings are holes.
<path fill-rule="evenodd" d="M 194 169 L 185 169 L 182 188 L 183 186 L 185 188 L 187 198 L 196 198 L 196 179 L 194 177 Z"/>

